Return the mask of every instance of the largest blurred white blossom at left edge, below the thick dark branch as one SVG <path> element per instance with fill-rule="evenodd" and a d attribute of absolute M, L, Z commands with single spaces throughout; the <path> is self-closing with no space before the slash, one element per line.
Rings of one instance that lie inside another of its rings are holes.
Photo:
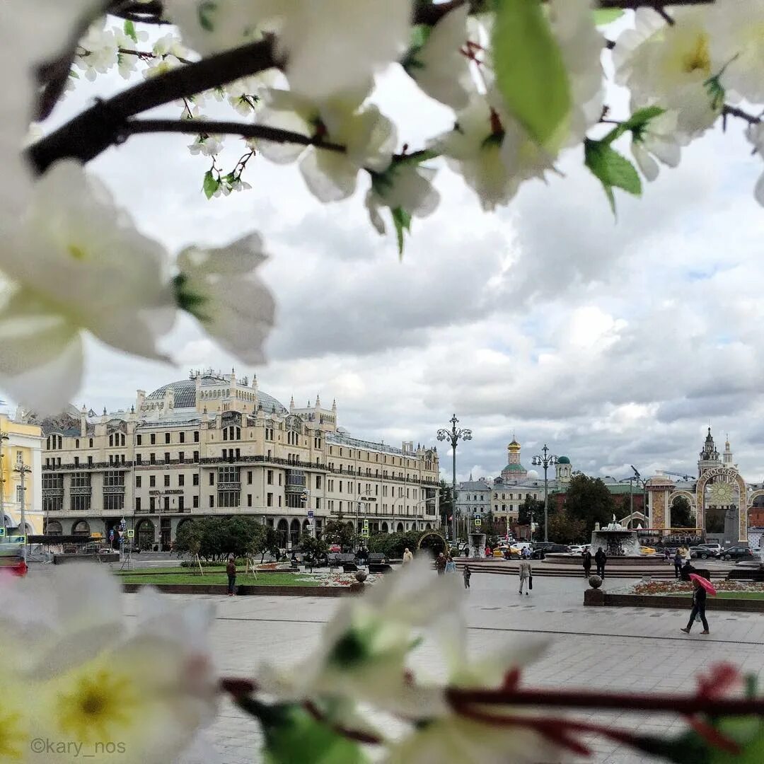
<path fill-rule="evenodd" d="M 174 319 L 164 258 L 79 163 L 50 167 L 0 245 L 0 270 L 12 282 L 0 307 L 6 389 L 35 410 L 61 410 L 79 384 L 83 332 L 163 358 L 155 340 Z M 56 363 L 64 373 L 51 384 Z"/>

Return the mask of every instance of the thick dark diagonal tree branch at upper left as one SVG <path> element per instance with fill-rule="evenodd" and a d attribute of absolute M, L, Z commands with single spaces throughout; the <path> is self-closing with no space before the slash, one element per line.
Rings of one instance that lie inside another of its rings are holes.
<path fill-rule="evenodd" d="M 89 162 L 124 138 L 128 118 L 277 66 L 270 38 L 179 66 L 151 77 L 91 108 L 37 141 L 28 158 L 38 173 L 59 159 Z"/>

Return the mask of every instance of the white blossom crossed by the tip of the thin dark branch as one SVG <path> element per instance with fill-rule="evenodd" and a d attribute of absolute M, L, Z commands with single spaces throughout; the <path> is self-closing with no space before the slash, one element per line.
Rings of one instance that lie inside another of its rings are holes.
<path fill-rule="evenodd" d="M 355 190 L 358 170 L 382 172 L 389 167 L 397 142 L 395 125 L 376 106 L 359 106 L 366 92 L 364 87 L 314 101 L 286 90 L 267 91 L 257 118 L 260 124 L 322 138 L 344 146 L 345 151 L 261 139 L 261 153 L 279 163 L 299 159 L 309 190 L 322 202 L 346 199 Z"/>

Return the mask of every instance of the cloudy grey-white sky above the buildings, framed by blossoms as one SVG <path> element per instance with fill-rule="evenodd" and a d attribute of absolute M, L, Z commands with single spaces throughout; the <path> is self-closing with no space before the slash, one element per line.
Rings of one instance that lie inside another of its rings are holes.
<path fill-rule="evenodd" d="M 81 83 L 54 121 L 125 86 Z M 412 148 L 452 121 L 400 70 L 374 100 Z M 626 115 L 623 93 L 607 100 Z M 191 368 L 235 366 L 284 403 L 336 398 L 339 423 L 363 438 L 433 443 L 456 412 L 474 434 L 458 452 L 460 478 L 497 474 L 513 433 L 526 467 L 546 442 L 590 474 L 692 474 L 711 423 L 720 448 L 729 432 L 746 479 L 761 481 L 764 209 L 753 185 L 764 167 L 743 126 L 696 141 L 643 199 L 619 194 L 617 220 L 580 149 L 563 155 L 561 176 L 526 184 L 493 214 L 442 167 L 441 205 L 415 221 L 402 262 L 368 222 L 366 180 L 325 206 L 295 166 L 258 160 L 251 191 L 207 201 L 208 160 L 189 155 L 189 138 L 131 138 L 91 169 L 170 251 L 261 231 L 278 325 L 257 370 L 190 320 L 163 343 L 175 365 L 93 342 L 74 403 L 114 410 Z M 228 141 L 231 166 L 240 148 Z"/>

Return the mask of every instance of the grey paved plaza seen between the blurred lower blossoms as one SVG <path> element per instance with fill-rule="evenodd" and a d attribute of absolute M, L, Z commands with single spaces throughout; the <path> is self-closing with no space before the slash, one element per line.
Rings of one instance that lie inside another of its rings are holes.
<path fill-rule="evenodd" d="M 434 575 L 434 574 L 433 574 Z M 518 636 L 552 638 L 539 662 L 526 667 L 527 685 L 611 690 L 691 691 L 694 675 L 708 665 L 732 661 L 745 672 L 764 670 L 764 614 L 709 613 L 711 635 L 685 636 L 687 610 L 584 608 L 584 578 L 538 578 L 526 597 L 517 594 L 516 578 L 473 575 L 468 596 L 469 646 L 476 654 Z M 629 581 L 610 584 L 620 588 Z M 188 597 L 189 595 L 168 595 Z M 265 658 L 293 662 L 306 656 L 319 639 L 323 623 L 341 600 L 319 597 L 206 597 L 218 601 L 212 639 L 215 659 L 224 674 L 248 675 Z M 133 613 L 134 595 L 125 595 L 126 612 Z M 435 654 L 426 655 L 433 669 Z M 581 714 L 586 718 L 587 714 Z M 591 712 L 591 720 L 612 720 L 618 726 L 636 723 L 634 714 Z M 643 732 L 681 730 L 679 717 L 654 714 L 639 717 Z M 228 701 L 210 730 L 215 760 L 222 764 L 259 762 L 257 723 Z M 597 764 L 652 761 L 605 740 L 592 743 Z M 570 759 L 568 759 L 570 760 Z M 574 759 L 581 761 L 581 759 Z"/>

